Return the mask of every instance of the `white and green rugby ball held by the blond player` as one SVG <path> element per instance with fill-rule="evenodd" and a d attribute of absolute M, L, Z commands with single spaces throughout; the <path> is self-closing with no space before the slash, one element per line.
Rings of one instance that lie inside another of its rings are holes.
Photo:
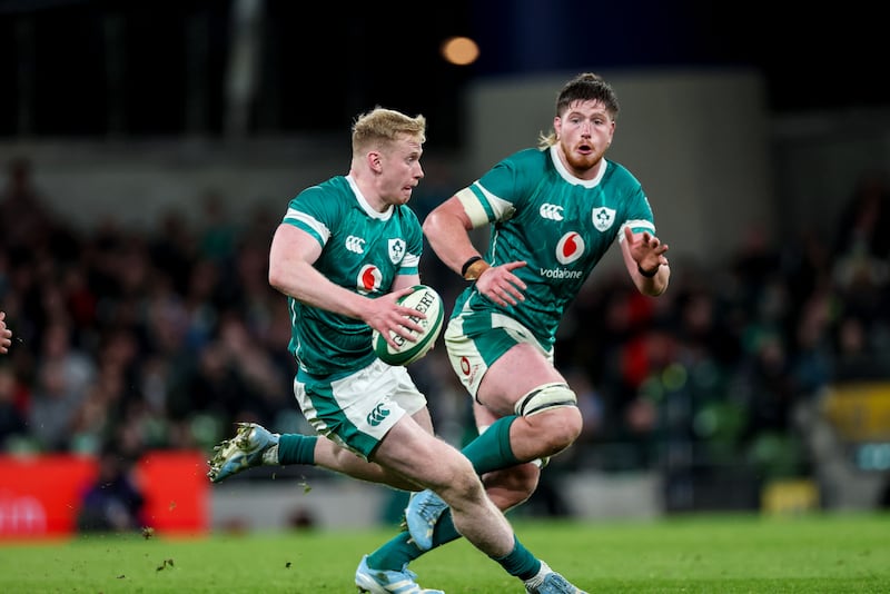
<path fill-rule="evenodd" d="M 374 353 L 389 365 L 408 365 L 426 355 L 438 338 L 442 325 L 445 320 L 445 304 L 442 297 L 432 287 L 426 285 L 415 285 L 414 293 L 405 295 L 398 300 L 399 305 L 411 307 L 426 315 L 426 318 L 412 316 L 414 321 L 423 326 L 422 333 L 414 333 L 417 340 L 412 343 L 395 333 L 389 333 L 395 340 L 397 348 L 393 348 L 384 340 L 380 333 L 372 333 L 372 345 Z"/>

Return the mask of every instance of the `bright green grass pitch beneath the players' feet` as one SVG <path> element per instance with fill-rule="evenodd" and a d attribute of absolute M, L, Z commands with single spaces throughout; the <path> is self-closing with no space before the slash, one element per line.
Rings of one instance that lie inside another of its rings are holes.
<path fill-rule="evenodd" d="M 590 593 L 890 592 L 888 514 L 514 525 L 526 546 Z M 355 593 L 359 558 L 394 531 L 0 542 L 0 592 Z M 449 594 L 523 593 L 517 580 L 465 541 L 412 568 L 422 585 Z"/>

